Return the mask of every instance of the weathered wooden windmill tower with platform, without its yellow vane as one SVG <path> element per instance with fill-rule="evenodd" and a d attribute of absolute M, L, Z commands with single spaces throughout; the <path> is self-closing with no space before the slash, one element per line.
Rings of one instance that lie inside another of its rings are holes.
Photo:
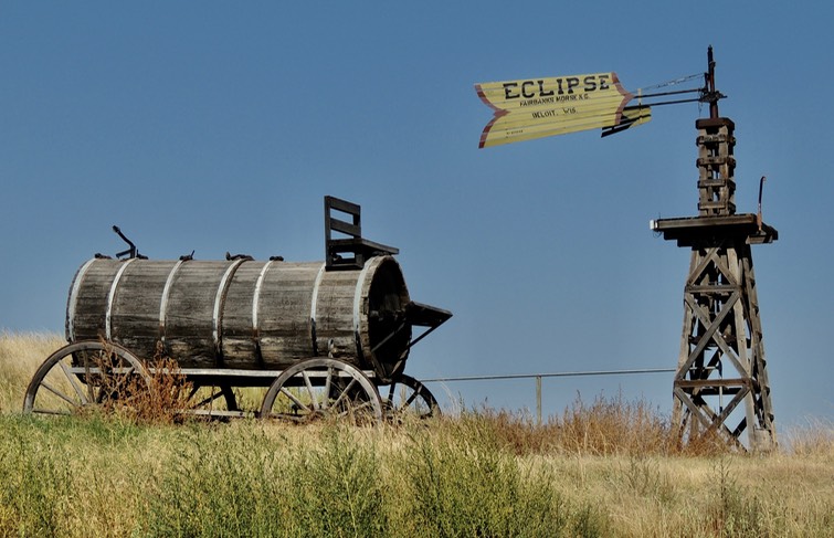
<path fill-rule="evenodd" d="M 715 89 L 711 46 L 708 62 L 704 101 L 710 114 L 695 123 L 698 215 L 651 224 L 692 249 L 673 423 L 682 439 L 715 434 L 741 450 L 769 451 L 777 435 L 751 245 L 772 243 L 779 233 L 762 222 L 761 205 L 758 214 L 736 213 L 735 124 L 718 115 L 724 96 Z"/>

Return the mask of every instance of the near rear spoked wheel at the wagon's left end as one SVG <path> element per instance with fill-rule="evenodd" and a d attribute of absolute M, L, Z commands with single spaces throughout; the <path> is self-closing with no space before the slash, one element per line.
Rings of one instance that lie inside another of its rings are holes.
<path fill-rule="evenodd" d="M 73 414 L 91 407 L 130 404 L 150 390 L 139 359 L 123 347 L 98 341 L 70 344 L 52 354 L 27 388 L 23 413 Z"/>

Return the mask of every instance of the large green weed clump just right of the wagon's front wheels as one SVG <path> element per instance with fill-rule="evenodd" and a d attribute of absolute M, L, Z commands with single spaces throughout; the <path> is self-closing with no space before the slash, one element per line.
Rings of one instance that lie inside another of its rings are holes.
<path fill-rule="evenodd" d="M 555 477 L 524 470 L 487 421 L 442 421 L 412 430 L 402 461 L 405 518 L 414 536 L 560 536 L 567 515 Z"/>

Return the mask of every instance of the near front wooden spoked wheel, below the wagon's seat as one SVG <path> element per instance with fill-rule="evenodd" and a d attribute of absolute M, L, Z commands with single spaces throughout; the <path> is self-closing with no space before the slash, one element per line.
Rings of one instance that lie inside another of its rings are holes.
<path fill-rule="evenodd" d="M 270 387 L 262 418 L 308 423 L 323 418 L 356 423 L 382 420 L 382 403 L 361 370 L 337 359 L 316 357 L 284 370 Z"/>

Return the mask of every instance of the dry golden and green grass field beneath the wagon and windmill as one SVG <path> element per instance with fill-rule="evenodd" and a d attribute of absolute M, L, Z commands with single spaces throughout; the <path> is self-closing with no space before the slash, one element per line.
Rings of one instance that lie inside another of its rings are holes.
<path fill-rule="evenodd" d="M 0 537 L 834 536 L 830 423 L 748 456 L 682 450 L 621 398 L 542 425 L 487 409 L 374 428 L 22 416 L 60 345 L 0 337 Z"/>

